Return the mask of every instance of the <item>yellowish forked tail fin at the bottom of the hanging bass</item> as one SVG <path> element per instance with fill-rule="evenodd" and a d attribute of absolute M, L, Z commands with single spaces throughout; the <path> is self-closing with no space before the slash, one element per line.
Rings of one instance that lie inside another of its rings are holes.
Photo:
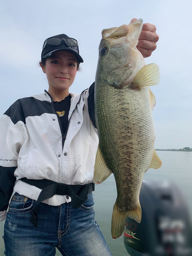
<path fill-rule="evenodd" d="M 112 225 L 111 225 L 111 234 L 112 238 L 115 240 L 119 238 L 123 233 L 126 224 L 126 218 L 129 217 L 134 219 L 136 222 L 141 222 L 141 205 L 138 204 L 135 210 L 130 210 L 126 212 L 119 211 L 117 202 L 115 202 L 113 207 L 113 216 L 112 216 Z"/>

